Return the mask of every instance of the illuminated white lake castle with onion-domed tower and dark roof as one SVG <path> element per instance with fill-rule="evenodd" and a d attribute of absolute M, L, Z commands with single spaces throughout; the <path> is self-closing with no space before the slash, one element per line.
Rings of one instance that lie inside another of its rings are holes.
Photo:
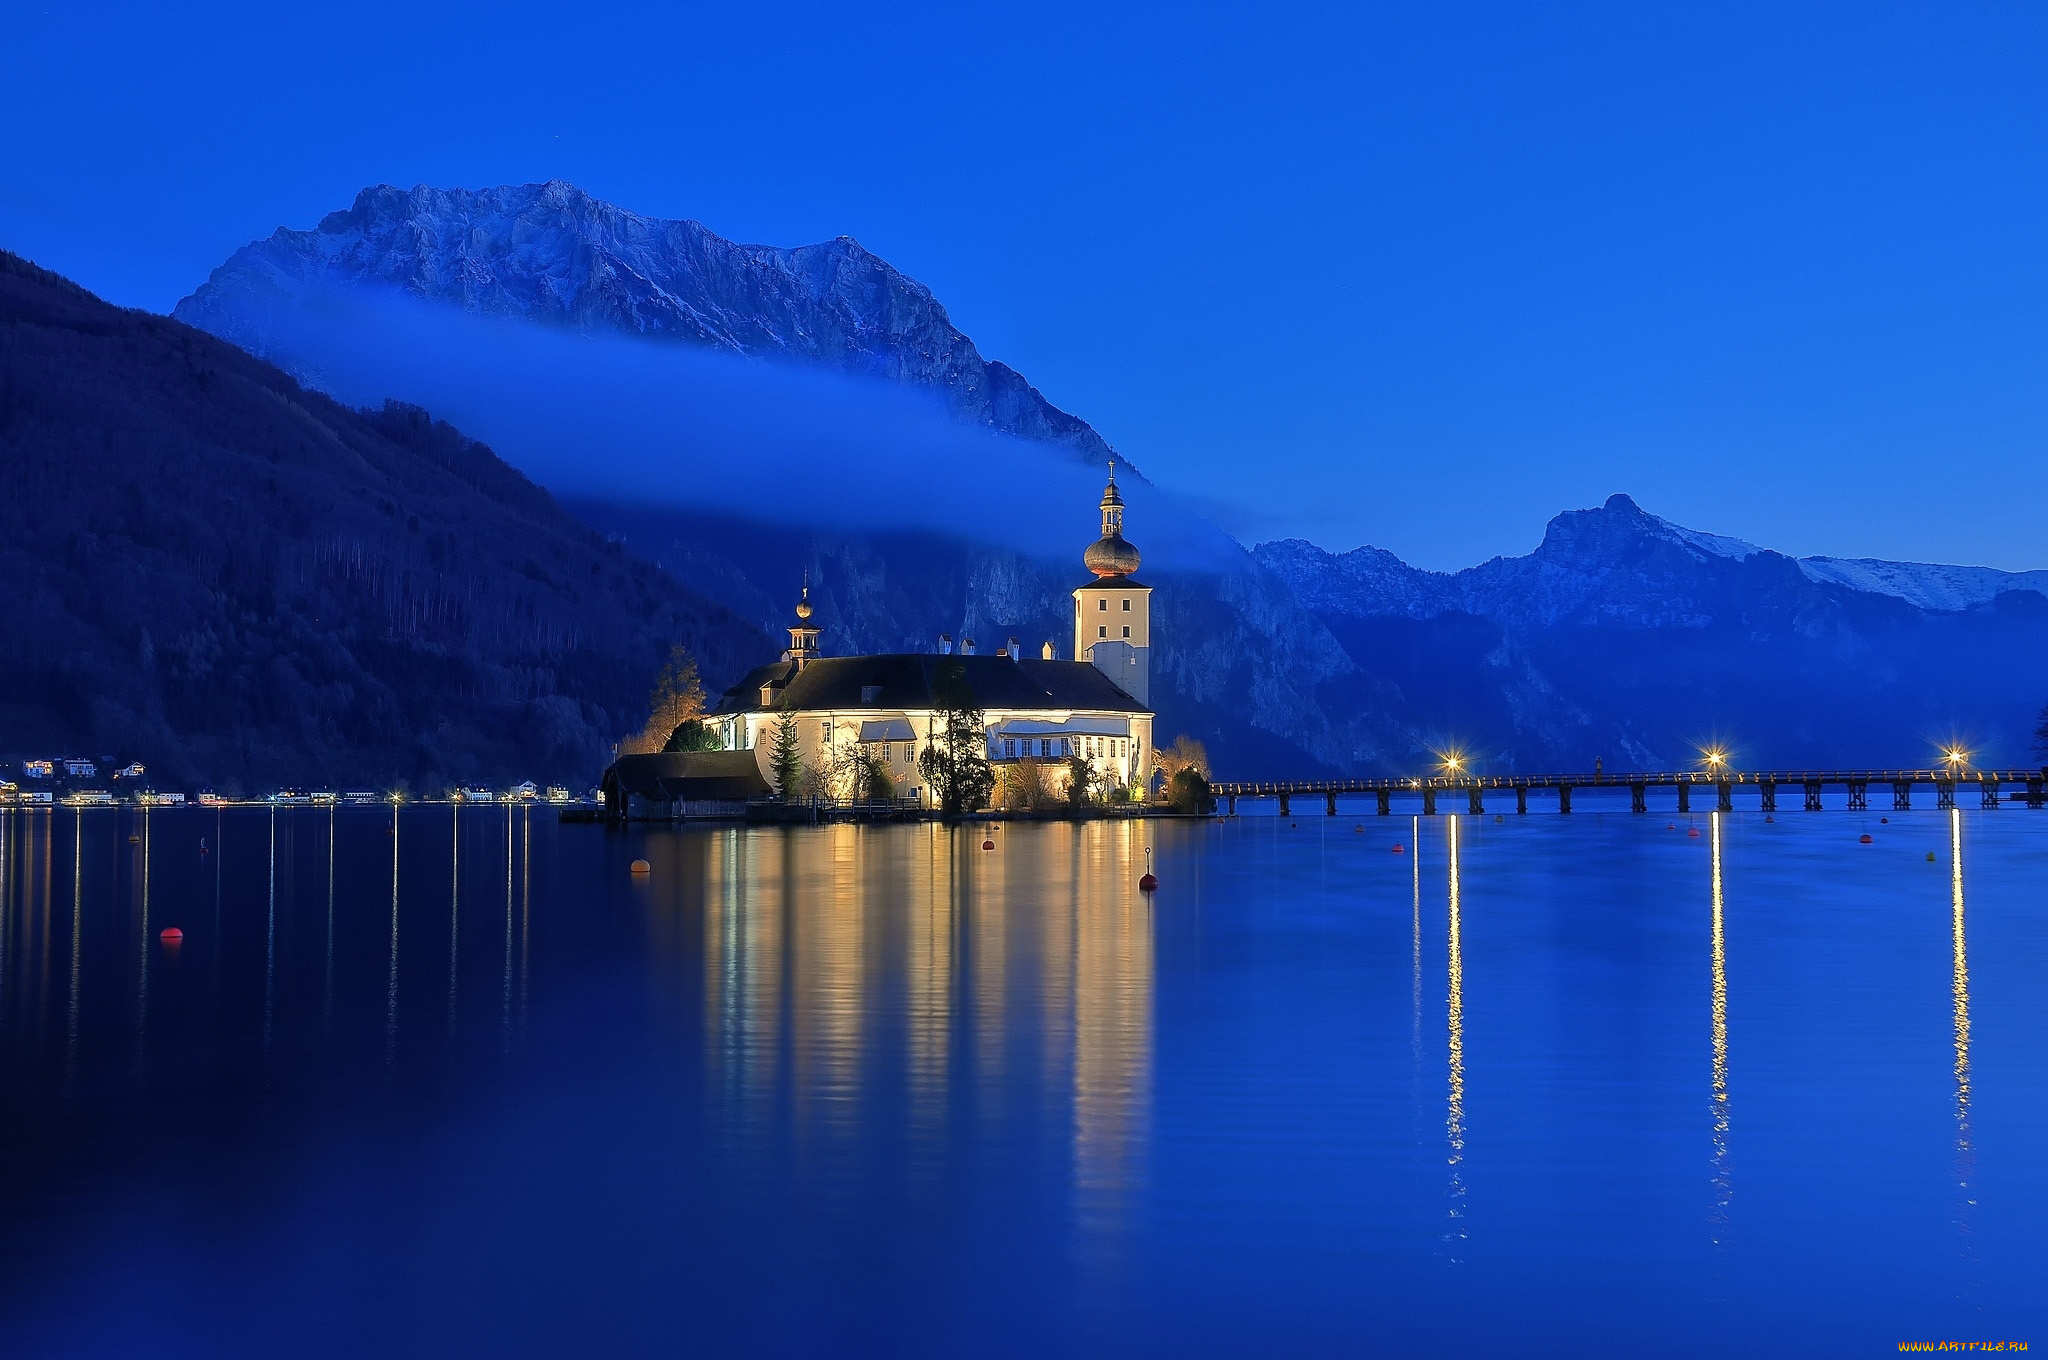
<path fill-rule="evenodd" d="M 932 741 L 938 694 L 965 682 L 981 709 L 985 754 L 997 774 L 1018 764 L 1049 766 L 1049 793 L 1065 787 L 1057 768 L 1081 758 L 1098 787 L 1143 789 L 1153 766 L 1151 698 L 1151 586 L 1137 580 L 1139 551 L 1124 539 L 1124 500 L 1116 467 L 1102 494 L 1102 537 L 1081 555 L 1094 580 L 1073 590 L 1073 660 L 1061 662 L 1047 641 L 1038 655 L 1024 655 L 1018 639 L 993 653 L 977 653 L 963 637 L 946 635 L 934 651 L 827 657 L 817 651 L 811 592 L 797 600 L 782 660 L 756 666 L 705 715 L 721 752 L 625 756 L 606 776 L 625 795 L 662 803 L 690 803 L 698 795 L 690 772 L 702 766 L 725 789 L 735 774 L 760 776 L 760 791 L 774 782 L 776 727 L 788 723 L 807 770 L 829 772 L 862 754 L 889 772 L 897 797 L 932 805 L 932 791 L 918 770 Z M 641 768 L 643 766 L 643 768 Z M 709 795 L 707 797 L 721 797 Z M 725 793 L 723 797 L 733 797 Z"/>

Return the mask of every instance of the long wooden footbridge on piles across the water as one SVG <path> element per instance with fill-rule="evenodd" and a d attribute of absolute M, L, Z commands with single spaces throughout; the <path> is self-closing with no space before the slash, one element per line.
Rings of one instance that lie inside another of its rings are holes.
<path fill-rule="evenodd" d="M 1425 817 L 1436 815 L 1436 801 L 1448 797 L 1456 803 L 1464 795 L 1466 811 L 1479 815 L 1487 811 L 1487 795 L 1505 801 L 1511 793 L 1516 811 L 1530 809 L 1530 791 L 1556 795 L 1556 809 L 1571 811 L 1575 789 L 1626 789 L 1630 811 L 1649 811 L 1651 791 L 1671 789 L 1677 793 L 1677 811 L 1690 813 L 1694 795 L 1712 795 L 1714 807 L 1735 811 L 1735 791 L 1755 789 L 1759 811 L 1778 811 L 1778 791 L 1798 789 L 1810 813 L 1821 811 L 1821 791 L 1829 787 L 1845 789 L 1849 811 L 1870 807 L 1870 787 L 1890 787 L 1892 811 L 1913 807 L 1915 789 L 1931 789 L 1935 807 L 1956 807 L 1958 791 L 1968 791 L 1980 807 L 2005 803 L 2025 803 L 2042 807 L 2048 803 L 2048 768 L 2042 770 L 1671 770 L 1663 774 L 1438 774 L 1430 778 L 1325 778 L 1325 780 L 1251 780 L 1214 782 L 1210 793 L 1225 801 L 1229 813 L 1237 815 L 1237 799 L 1280 799 L 1280 815 L 1294 815 L 1294 799 L 1323 799 L 1323 811 L 1337 815 L 1337 799 L 1343 795 L 1372 795 L 1378 813 L 1393 811 L 1393 801 L 1419 799 Z"/>

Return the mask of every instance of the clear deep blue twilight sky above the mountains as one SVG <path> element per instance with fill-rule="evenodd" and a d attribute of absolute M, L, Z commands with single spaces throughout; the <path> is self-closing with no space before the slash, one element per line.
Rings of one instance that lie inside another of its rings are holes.
<path fill-rule="evenodd" d="M 2048 565 L 2040 8 L 172 8 L 0 51 L 0 246 L 115 301 L 559 176 L 860 238 L 1247 541 Z"/>

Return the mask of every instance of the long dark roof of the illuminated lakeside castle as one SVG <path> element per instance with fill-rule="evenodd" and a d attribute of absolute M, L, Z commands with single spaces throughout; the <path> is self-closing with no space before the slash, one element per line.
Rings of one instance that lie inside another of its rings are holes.
<path fill-rule="evenodd" d="M 793 662 L 756 666 L 725 690 L 717 713 L 758 709 L 930 709 L 938 668 L 958 664 L 983 709 L 1096 709 L 1102 713 L 1151 713 L 1116 688 L 1087 662 L 1012 662 L 1008 655 L 831 655 L 801 672 Z M 774 703 L 762 703 L 762 686 L 780 684 Z M 864 700 L 866 690 L 877 690 Z"/>

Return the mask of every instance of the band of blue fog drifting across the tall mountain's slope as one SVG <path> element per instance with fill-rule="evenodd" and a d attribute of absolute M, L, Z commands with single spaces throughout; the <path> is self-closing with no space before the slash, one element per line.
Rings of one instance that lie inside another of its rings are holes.
<path fill-rule="evenodd" d="M 561 496 L 926 528 L 1049 561 L 1077 559 L 1098 533 L 1106 467 L 967 424 L 887 379 L 385 291 L 281 299 L 260 352 L 352 406 L 422 406 Z M 1247 567 L 1237 541 L 1171 494 L 1133 475 L 1118 485 L 1149 569 Z"/>

